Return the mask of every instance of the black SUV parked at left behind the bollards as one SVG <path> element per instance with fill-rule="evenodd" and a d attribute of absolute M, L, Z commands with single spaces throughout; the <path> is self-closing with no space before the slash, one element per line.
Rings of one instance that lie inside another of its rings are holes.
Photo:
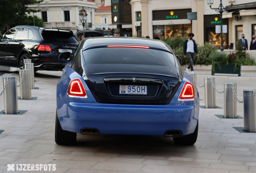
<path fill-rule="evenodd" d="M 36 26 L 16 26 L 0 40 L 0 65 L 23 68 L 23 59 L 31 59 L 37 70 L 62 70 L 61 52 L 74 54 L 78 40 L 72 31 Z"/>

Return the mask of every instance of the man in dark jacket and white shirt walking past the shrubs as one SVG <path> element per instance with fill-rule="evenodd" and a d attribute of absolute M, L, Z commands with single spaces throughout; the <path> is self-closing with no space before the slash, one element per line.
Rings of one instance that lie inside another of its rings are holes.
<path fill-rule="evenodd" d="M 191 73 L 194 73 L 193 69 L 193 62 L 194 62 L 194 54 L 196 53 L 196 56 L 198 57 L 198 50 L 197 50 L 197 45 L 196 42 L 192 39 L 194 37 L 193 33 L 188 34 L 189 38 L 184 42 L 184 48 L 183 48 L 183 53 L 184 53 L 184 58 L 188 57 L 189 64 L 188 68 L 186 68 L 187 72 L 190 72 L 191 68 Z"/>

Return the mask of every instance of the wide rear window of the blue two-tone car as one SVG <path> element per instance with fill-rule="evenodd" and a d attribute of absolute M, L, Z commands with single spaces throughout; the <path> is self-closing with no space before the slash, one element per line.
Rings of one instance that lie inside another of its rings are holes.
<path fill-rule="evenodd" d="M 93 48 L 84 52 L 86 64 L 175 66 L 173 54 L 147 48 Z"/>

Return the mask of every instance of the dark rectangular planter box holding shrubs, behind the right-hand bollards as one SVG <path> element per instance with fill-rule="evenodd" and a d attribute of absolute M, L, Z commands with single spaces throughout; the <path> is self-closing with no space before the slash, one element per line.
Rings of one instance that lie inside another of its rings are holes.
<path fill-rule="evenodd" d="M 215 73 L 223 73 L 223 74 L 238 74 L 238 76 L 241 76 L 241 65 L 237 65 L 237 68 L 234 71 L 235 64 L 221 64 L 221 70 L 218 68 L 218 65 L 215 65 Z M 212 68 L 212 75 L 213 73 L 213 68 Z"/>

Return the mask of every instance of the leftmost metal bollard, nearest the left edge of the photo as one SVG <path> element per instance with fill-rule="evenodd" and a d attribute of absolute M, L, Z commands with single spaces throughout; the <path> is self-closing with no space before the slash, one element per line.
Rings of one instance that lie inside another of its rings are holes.
<path fill-rule="evenodd" d="M 3 83 L 5 85 L 8 77 L 3 77 Z M 5 114 L 17 114 L 18 113 L 18 95 L 16 76 L 9 77 L 8 84 L 4 90 L 4 113 Z"/>

